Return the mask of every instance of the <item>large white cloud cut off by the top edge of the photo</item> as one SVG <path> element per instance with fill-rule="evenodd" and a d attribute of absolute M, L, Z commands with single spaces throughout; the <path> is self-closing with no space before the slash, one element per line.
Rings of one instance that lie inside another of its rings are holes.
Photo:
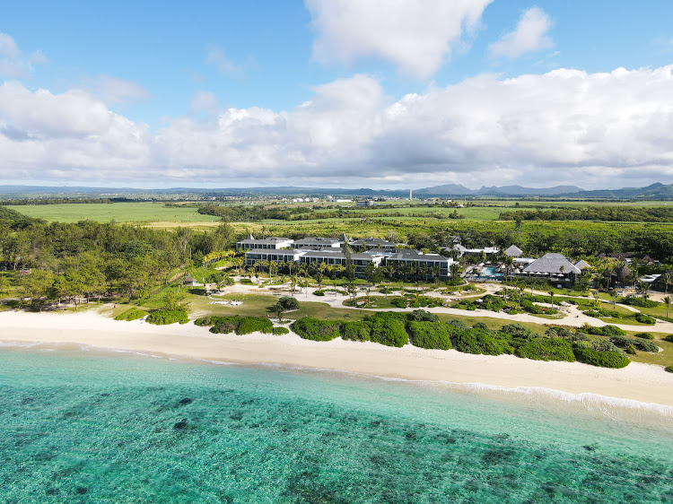
<path fill-rule="evenodd" d="M 305 0 L 317 32 L 313 57 L 347 65 L 374 56 L 428 78 L 492 1 Z"/>

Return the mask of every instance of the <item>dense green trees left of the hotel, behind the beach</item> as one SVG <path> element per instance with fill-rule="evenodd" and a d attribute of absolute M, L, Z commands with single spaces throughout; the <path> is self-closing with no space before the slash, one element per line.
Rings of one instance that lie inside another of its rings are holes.
<path fill-rule="evenodd" d="M 190 256 L 231 248 L 227 225 L 208 232 L 153 230 L 113 222 L 45 223 L 0 206 L 0 260 L 19 278 L 19 293 L 41 306 L 47 300 L 87 302 L 104 294 L 144 299 L 170 282 Z M 200 263 L 199 263 L 200 265 Z"/>

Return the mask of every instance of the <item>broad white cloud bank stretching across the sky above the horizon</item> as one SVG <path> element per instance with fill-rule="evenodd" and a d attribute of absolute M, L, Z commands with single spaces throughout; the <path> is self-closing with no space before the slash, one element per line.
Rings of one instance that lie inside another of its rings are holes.
<path fill-rule="evenodd" d="M 83 91 L 0 86 L 0 179 L 580 187 L 673 181 L 673 65 L 484 74 L 391 100 L 355 75 L 289 111 L 176 117 L 155 134 Z M 195 96 L 207 104 L 213 96 Z"/>

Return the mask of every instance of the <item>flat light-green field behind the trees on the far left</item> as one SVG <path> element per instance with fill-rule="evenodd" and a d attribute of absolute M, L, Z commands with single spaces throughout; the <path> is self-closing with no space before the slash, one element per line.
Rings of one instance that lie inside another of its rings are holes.
<path fill-rule="evenodd" d="M 165 222 L 176 226 L 190 222 L 220 222 L 213 215 L 198 213 L 194 207 L 165 206 L 162 203 L 25 204 L 9 205 L 9 208 L 48 222 Z"/>

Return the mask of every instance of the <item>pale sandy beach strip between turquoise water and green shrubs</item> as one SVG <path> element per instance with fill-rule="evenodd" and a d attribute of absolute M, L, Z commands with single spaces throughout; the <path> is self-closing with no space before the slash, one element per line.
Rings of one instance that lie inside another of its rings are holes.
<path fill-rule="evenodd" d="M 0 341 L 58 348 L 74 343 L 103 351 L 162 355 L 213 363 L 274 364 L 335 370 L 369 377 L 465 386 L 545 388 L 572 395 L 593 394 L 644 404 L 673 406 L 673 374 L 632 362 L 624 369 L 580 362 L 531 361 L 512 355 L 472 355 L 456 350 L 392 348 L 378 343 L 303 340 L 298 335 L 213 335 L 207 327 L 152 326 L 83 313 L 0 312 Z"/>

